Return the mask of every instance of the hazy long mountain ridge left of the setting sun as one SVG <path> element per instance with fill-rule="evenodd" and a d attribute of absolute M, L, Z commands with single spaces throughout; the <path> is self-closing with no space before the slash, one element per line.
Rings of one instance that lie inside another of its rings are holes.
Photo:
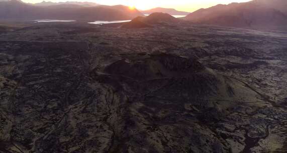
<path fill-rule="evenodd" d="M 22 3 L 17 0 L 0 2 L 0 20 L 131 20 L 138 16 L 144 16 L 138 10 L 130 10 L 126 6 L 95 6 L 95 7 L 61 7 L 35 6 Z M 75 5 L 76 6 L 76 5 Z"/>

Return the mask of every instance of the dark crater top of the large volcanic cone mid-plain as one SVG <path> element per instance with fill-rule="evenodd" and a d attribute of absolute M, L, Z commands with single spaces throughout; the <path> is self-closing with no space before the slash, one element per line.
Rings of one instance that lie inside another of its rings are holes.
<path fill-rule="evenodd" d="M 205 70 L 205 66 L 191 58 L 162 52 L 122 59 L 105 68 L 106 73 L 121 75 L 135 80 L 165 77 L 188 77 Z"/>

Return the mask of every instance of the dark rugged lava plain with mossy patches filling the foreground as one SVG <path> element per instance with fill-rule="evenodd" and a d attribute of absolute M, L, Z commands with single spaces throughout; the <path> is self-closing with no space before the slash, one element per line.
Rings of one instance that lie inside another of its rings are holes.
<path fill-rule="evenodd" d="M 0 152 L 286 152 L 285 33 L 40 23 L 0 33 Z"/>

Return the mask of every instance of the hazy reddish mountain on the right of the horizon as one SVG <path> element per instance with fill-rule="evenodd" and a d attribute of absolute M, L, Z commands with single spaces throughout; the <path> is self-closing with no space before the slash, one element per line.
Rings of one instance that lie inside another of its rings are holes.
<path fill-rule="evenodd" d="M 201 24 L 287 30 L 287 1 L 254 0 L 200 9 L 184 18 Z"/>

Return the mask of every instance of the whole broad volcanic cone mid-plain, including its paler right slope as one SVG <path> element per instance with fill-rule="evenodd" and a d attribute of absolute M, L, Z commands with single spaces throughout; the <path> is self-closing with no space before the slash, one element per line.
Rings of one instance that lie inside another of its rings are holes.
<path fill-rule="evenodd" d="M 129 89 L 133 89 L 129 92 L 137 91 L 145 95 L 162 86 L 164 88 L 158 91 L 157 96 L 167 99 L 179 98 L 176 95 L 179 91 L 186 94 L 186 99 L 196 97 L 201 100 L 237 101 L 245 95 L 246 101 L 255 101 L 257 95 L 237 80 L 217 74 L 196 59 L 165 53 L 130 56 L 108 65 L 104 73 L 127 84 Z M 167 82 L 170 85 L 165 86 Z"/>

